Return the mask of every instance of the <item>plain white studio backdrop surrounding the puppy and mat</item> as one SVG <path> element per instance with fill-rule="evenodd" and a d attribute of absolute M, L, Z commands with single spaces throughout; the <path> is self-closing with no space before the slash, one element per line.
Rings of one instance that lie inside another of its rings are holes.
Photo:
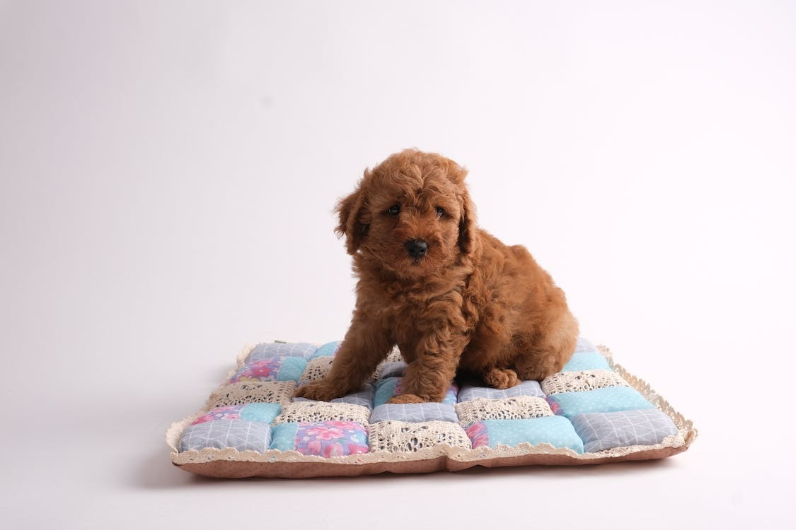
<path fill-rule="evenodd" d="M 2 528 L 794 523 L 792 2 L 0 1 Z M 163 433 L 345 333 L 335 201 L 416 146 L 693 419 L 661 462 L 216 481 Z"/>

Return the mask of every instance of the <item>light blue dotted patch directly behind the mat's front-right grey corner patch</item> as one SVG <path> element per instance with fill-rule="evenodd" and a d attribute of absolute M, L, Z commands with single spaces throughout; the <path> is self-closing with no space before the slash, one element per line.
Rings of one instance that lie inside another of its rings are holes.
<path fill-rule="evenodd" d="M 638 390 L 627 386 L 611 386 L 606 389 L 585 392 L 562 392 L 547 398 L 553 412 L 572 418 L 590 412 L 618 412 L 654 408 Z"/>

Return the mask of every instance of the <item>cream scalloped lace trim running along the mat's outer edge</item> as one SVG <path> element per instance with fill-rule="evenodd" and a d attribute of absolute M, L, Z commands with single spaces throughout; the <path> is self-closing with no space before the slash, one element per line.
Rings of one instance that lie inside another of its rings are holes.
<path fill-rule="evenodd" d="M 611 369 L 614 369 L 627 383 L 634 389 L 638 390 L 646 400 L 654 404 L 661 412 L 672 418 L 674 424 L 678 428 L 677 435 L 667 436 L 661 443 L 655 445 L 643 446 L 626 446 L 614 447 L 605 451 L 596 453 L 583 453 L 578 454 L 566 447 L 553 447 L 549 443 L 540 443 L 532 445 L 530 443 L 519 443 L 516 447 L 497 446 L 494 449 L 490 447 L 478 447 L 478 449 L 465 449 L 463 447 L 455 447 L 450 444 L 440 444 L 435 447 L 426 447 L 419 449 L 416 452 L 388 452 L 388 451 L 375 451 L 365 455 L 349 455 L 338 456 L 331 458 L 323 458 L 320 456 L 306 456 L 301 455 L 297 451 L 276 451 L 269 450 L 264 453 L 257 451 L 237 451 L 234 447 L 226 449 L 205 448 L 201 451 L 177 451 L 177 445 L 180 441 L 182 432 L 188 427 L 193 420 L 196 420 L 205 412 L 208 412 L 210 403 L 205 405 L 201 411 L 188 416 L 185 420 L 171 424 L 171 427 L 166 431 L 166 444 L 171 449 L 171 460 L 175 465 L 182 466 L 189 463 L 206 463 L 216 460 L 228 460 L 236 462 L 330 462 L 344 465 L 361 465 L 377 462 L 405 462 L 409 460 L 430 460 L 447 456 L 455 462 L 479 462 L 491 460 L 493 458 L 511 458 L 525 455 L 563 455 L 572 458 L 576 461 L 583 461 L 584 463 L 590 460 L 599 460 L 600 458 L 618 458 L 633 453 L 646 453 L 652 451 L 659 451 L 661 449 L 679 449 L 685 451 L 696 439 L 698 431 L 693 427 L 693 421 L 686 420 L 680 412 L 677 412 L 668 401 L 663 399 L 656 393 L 646 381 L 640 377 L 636 377 L 622 366 L 613 360 L 613 354 L 606 346 L 599 345 L 599 350 L 605 355 Z M 251 351 L 251 348 L 246 350 L 245 354 Z M 245 358 L 245 355 L 244 355 Z M 240 366 L 239 358 L 239 366 Z M 232 377 L 236 369 L 230 371 L 228 376 Z M 222 389 L 227 383 L 224 382 L 219 388 Z M 373 428 L 373 425 L 371 426 Z"/>

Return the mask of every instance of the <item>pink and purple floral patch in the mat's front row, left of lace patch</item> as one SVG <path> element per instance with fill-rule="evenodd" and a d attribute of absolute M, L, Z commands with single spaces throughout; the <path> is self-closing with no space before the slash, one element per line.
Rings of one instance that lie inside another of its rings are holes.
<path fill-rule="evenodd" d="M 367 453 L 368 431 L 353 421 L 298 424 L 295 450 L 302 455 L 326 458 Z"/>

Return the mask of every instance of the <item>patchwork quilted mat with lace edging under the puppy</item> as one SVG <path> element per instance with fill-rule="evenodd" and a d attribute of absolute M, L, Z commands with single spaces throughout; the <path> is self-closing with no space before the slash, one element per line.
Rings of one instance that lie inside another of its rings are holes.
<path fill-rule="evenodd" d="M 442 403 L 388 403 L 407 367 L 397 349 L 361 392 L 293 397 L 326 375 L 339 346 L 244 350 L 205 407 L 166 433 L 174 465 L 218 478 L 423 473 L 665 458 L 696 438 L 691 421 L 587 339 L 543 381 L 455 381 Z"/>

